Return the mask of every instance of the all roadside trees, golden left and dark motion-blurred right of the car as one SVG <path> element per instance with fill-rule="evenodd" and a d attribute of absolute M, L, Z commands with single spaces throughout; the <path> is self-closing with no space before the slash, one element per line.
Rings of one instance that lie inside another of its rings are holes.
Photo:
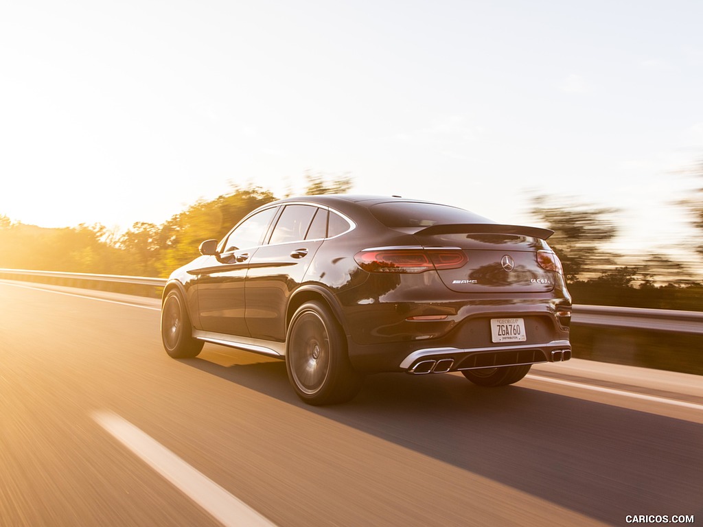
<path fill-rule="evenodd" d="M 703 178 L 703 162 L 696 170 Z M 306 177 L 307 194 L 344 193 L 352 187 L 348 176 L 332 181 L 322 174 Z M 703 233 L 701 197 L 703 189 L 679 205 L 690 213 L 692 226 Z M 0 215 L 0 268 L 165 278 L 198 256 L 202 240 L 223 238 L 246 214 L 276 199 L 264 188 L 233 186 L 230 192 L 195 202 L 160 225 L 137 222 L 122 234 L 100 224 L 41 228 Z M 695 261 L 664 254 L 627 261 L 605 248 L 619 233 L 616 213 L 545 196 L 535 197 L 531 204 L 534 223 L 555 231 L 548 241 L 562 260 L 574 302 L 703 311 L 703 284 L 697 274 L 703 244 L 691 242 L 688 247 L 699 256 Z"/>

